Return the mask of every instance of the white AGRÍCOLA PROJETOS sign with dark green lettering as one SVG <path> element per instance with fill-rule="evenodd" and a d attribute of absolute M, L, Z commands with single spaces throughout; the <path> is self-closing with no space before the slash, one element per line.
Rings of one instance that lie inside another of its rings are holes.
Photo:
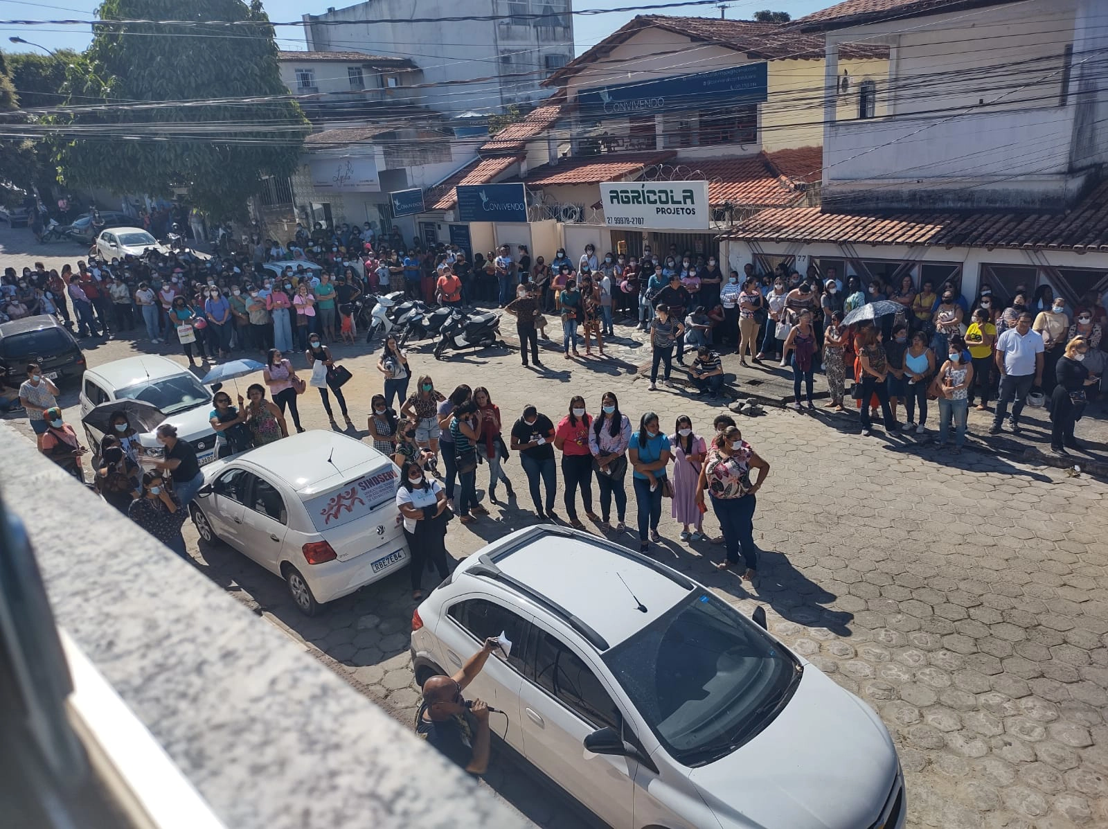
<path fill-rule="evenodd" d="M 708 182 L 602 182 L 608 227 L 707 231 Z"/>

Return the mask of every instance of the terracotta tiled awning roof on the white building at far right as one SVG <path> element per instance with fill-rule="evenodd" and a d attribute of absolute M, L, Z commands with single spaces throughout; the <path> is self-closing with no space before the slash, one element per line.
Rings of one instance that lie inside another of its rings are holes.
<path fill-rule="evenodd" d="M 845 214 L 784 207 L 755 214 L 725 238 L 1108 253 L 1108 182 L 1064 213 Z"/>

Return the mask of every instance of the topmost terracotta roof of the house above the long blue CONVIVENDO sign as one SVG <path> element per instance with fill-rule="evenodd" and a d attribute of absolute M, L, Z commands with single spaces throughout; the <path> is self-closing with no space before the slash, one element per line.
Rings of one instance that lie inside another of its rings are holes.
<path fill-rule="evenodd" d="M 665 14 L 639 14 L 592 49 L 581 53 L 543 81 L 544 86 L 558 85 L 566 78 L 609 54 L 620 43 L 645 29 L 665 29 L 695 41 L 718 43 L 763 60 L 817 59 L 824 55 L 823 38 L 804 34 L 791 24 L 761 23 L 756 20 L 720 20 L 719 18 L 678 18 Z M 840 58 L 888 58 L 889 47 L 878 43 L 843 43 Z"/>

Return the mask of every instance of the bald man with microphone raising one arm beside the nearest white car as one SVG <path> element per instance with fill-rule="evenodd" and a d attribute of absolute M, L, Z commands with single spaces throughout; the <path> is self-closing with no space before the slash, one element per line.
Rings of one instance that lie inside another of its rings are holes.
<path fill-rule="evenodd" d="M 416 733 L 471 775 L 483 775 L 489 768 L 491 709 L 480 699 L 466 700 L 462 690 L 481 673 L 489 654 L 499 647 L 500 642 L 488 638 L 456 674 L 439 674 L 423 683 Z"/>

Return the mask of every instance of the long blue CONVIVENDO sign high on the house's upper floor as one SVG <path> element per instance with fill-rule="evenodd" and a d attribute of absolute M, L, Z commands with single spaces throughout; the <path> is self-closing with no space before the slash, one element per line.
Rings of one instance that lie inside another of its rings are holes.
<path fill-rule="evenodd" d="M 680 106 L 706 106 L 725 101 L 757 103 L 768 96 L 769 73 L 766 65 L 743 63 L 715 72 L 602 86 L 578 92 L 577 105 L 583 115 L 605 119 Z"/>

